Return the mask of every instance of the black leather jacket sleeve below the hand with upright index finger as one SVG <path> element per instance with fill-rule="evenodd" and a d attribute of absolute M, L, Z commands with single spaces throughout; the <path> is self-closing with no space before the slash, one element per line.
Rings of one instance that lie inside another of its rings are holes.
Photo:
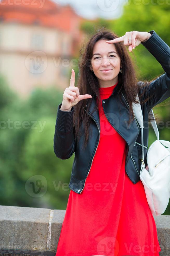
<path fill-rule="evenodd" d="M 58 106 L 55 133 L 54 153 L 60 159 L 68 159 L 75 152 L 75 133 L 73 127 L 74 107 L 70 111 L 62 111 L 62 103 Z"/>

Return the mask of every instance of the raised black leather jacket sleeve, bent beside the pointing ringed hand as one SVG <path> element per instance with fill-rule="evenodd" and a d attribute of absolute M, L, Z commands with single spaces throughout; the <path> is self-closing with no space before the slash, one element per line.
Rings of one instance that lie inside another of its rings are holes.
<path fill-rule="evenodd" d="M 141 44 L 159 61 L 166 73 L 152 81 L 149 86 L 147 85 L 148 88 L 143 99 L 152 95 L 146 103 L 148 113 L 154 106 L 170 97 L 170 48 L 154 30 L 149 33 L 151 36 Z"/>

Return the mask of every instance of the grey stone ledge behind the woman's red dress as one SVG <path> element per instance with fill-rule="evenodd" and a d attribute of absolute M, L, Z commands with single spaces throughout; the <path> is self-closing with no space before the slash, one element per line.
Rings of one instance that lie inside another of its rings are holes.
<path fill-rule="evenodd" d="M 56 252 L 66 210 L 0 206 L 0 249 Z M 170 216 L 154 216 L 161 256 L 170 255 Z"/>

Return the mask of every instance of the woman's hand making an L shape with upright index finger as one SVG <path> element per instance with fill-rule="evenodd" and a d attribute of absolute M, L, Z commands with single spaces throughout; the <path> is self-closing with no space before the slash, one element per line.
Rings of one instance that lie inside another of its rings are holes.
<path fill-rule="evenodd" d="M 63 94 L 63 101 L 61 105 L 61 110 L 70 111 L 73 106 L 75 106 L 79 101 L 91 98 L 90 94 L 80 95 L 79 88 L 74 86 L 75 83 L 75 72 L 74 69 L 71 70 L 70 86 L 67 87 Z"/>

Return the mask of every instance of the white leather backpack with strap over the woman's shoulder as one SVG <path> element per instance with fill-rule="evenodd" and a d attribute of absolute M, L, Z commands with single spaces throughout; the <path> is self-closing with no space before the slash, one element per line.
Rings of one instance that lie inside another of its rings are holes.
<path fill-rule="evenodd" d="M 137 95 L 136 100 L 139 97 Z M 151 121 L 157 140 L 147 151 L 147 166 L 143 161 L 143 115 L 140 104 L 133 102 L 133 111 L 141 128 L 142 158 L 140 179 L 143 183 L 149 208 L 153 215 L 161 215 L 165 212 L 170 198 L 170 142 L 159 139 L 159 131 L 154 120 Z"/>

